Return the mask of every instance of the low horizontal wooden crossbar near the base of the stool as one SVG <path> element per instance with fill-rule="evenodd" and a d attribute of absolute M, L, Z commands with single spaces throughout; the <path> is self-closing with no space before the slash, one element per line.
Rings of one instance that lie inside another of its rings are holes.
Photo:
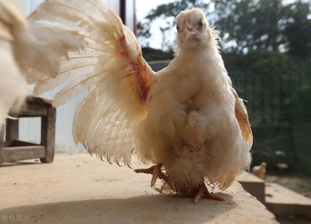
<path fill-rule="evenodd" d="M 3 163 L 44 157 L 44 146 L 21 146 L 3 148 Z"/>

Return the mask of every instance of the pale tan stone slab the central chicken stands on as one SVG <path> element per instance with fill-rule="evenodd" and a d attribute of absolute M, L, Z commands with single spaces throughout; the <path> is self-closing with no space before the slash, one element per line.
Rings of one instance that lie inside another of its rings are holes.
<path fill-rule="evenodd" d="M 133 167 L 143 167 L 133 162 Z M 0 167 L 0 218 L 28 223 L 275 224 L 274 215 L 235 182 L 214 194 L 225 202 L 159 195 L 151 175 L 110 165 L 88 154 L 56 154 L 51 164 L 26 161 Z M 20 217 L 20 216 L 19 216 Z M 1 223 L 1 222 L 0 222 Z"/>

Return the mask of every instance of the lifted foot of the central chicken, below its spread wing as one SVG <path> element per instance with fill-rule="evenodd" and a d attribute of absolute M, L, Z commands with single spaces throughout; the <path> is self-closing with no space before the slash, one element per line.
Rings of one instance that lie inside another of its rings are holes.
<path fill-rule="evenodd" d="M 136 173 L 152 174 L 152 179 L 151 179 L 151 184 L 150 184 L 151 187 L 155 186 L 155 181 L 157 178 L 159 178 L 159 179 L 163 179 L 164 181 L 166 181 L 169 184 L 172 191 L 176 191 L 173 181 L 161 171 L 162 165 L 163 164 L 157 164 L 147 169 L 135 169 L 134 171 Z"/>

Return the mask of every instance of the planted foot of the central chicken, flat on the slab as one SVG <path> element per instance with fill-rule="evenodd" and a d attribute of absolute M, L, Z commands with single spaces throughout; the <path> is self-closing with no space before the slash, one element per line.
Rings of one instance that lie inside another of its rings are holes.
<path fill-rule="evenodd" d="M 210 194 L 204 181 L 201 183 L 200 187 L 196 190 L 190 190 L 187 193 L 176 194 L 176 197 L 194 197 L 193 203 L 196 204 L 201 198 L 209 198 L 216 201 L 225 201 L 225 198 Z"/>

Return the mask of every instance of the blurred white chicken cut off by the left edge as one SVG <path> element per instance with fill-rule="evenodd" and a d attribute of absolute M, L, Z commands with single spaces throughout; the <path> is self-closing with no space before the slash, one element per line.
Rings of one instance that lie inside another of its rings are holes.
<path fill-rule="evenodd" d="M 23 103 L 27 83 L 56 76 L 61 57 L 82 49 L 81 41 L 64 27 L 29 24 L 16 0 L 0 0 L 0 127 Z"/>

